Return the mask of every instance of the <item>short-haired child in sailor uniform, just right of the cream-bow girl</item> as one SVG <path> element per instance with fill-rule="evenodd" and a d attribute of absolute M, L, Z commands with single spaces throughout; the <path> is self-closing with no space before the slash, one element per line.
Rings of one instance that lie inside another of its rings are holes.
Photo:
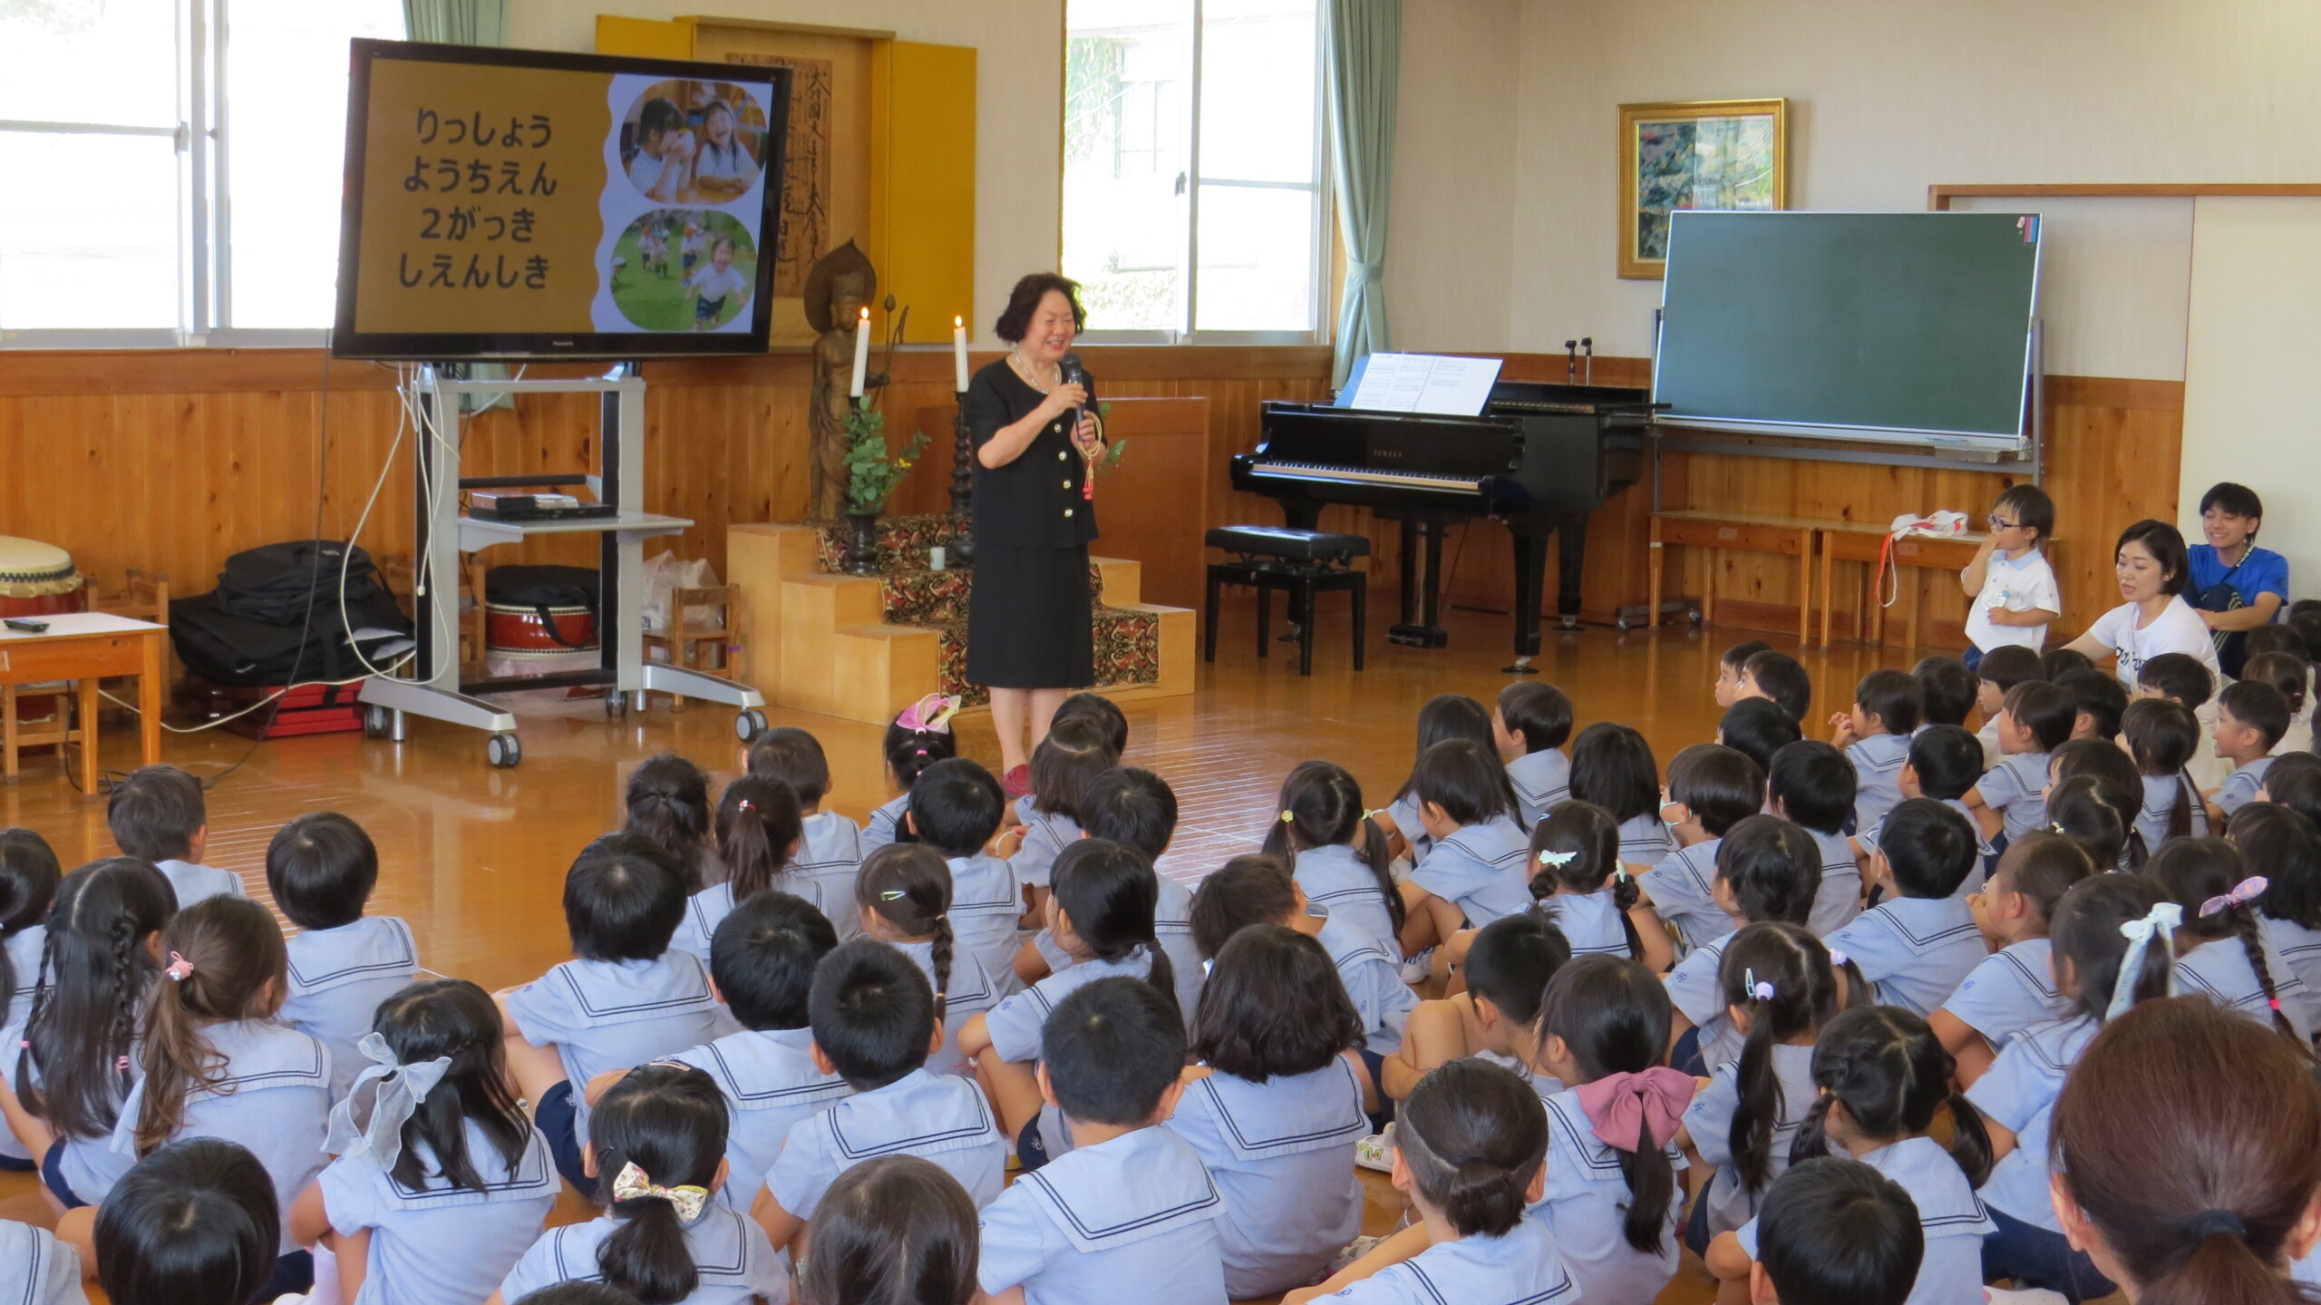
<path fill-rule="evenodd" d="M 926 1073 L 942 1038 L 935 989 L 903 952 L 856 938 L 815 968 L 815 1068 L 854 1089 L 791 1124 L 766 1170 L 750 1217 L 778 1247 L 803 1247 L 801 1231 L 831 1180 L 870 1156 L 914 1154 L 949 1170 L 977 1207 L 1000 1194 L 1007 1142 L 984 1094 L 959 1075 Z"/>

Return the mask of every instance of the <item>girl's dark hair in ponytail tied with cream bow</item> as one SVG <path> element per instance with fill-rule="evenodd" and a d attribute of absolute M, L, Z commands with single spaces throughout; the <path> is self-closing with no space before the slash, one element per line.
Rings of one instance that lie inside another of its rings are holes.
<path fill-rule="evenodd" d="M 638 1305 L 675 1305 L 701 1286 L 685 1226 L 713 1201 L 726 1103 L 710 1075 L 655 1061 L 624 1075 L 590 1117 L 606 1210 L 620 1221 L 596 1247 L 606 1286 Z"/>

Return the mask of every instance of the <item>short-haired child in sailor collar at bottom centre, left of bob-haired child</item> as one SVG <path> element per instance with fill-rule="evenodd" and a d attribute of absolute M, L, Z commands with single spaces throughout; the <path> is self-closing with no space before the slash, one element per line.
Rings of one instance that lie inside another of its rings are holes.
<path fill-rule="evenodd" d="M 1021 1289 L 1033 1305 L 1223 1300 L 1225 1198 L 1200 1152 L 1160 1126 L 1184 1094 L 1177 1003 L 1137 978 L 1098 978 L 1056 1003 L 1040 1047 L 1040 1096 L 1072 1149 L 984 1207 L 982 1289 Z"/>

